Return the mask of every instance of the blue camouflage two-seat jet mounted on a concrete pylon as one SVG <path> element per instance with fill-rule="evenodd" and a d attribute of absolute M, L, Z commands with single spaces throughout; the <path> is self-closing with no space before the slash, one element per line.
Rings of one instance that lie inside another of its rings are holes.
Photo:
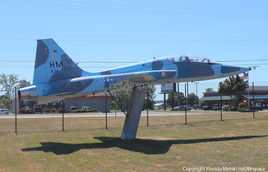
<path fill-rule="evenodd" d="M 41 39 L 37 40 L 33 85 L 19 89 L 18 96 L 21 100 L 38 100 L 40 105 L 60 98 L 90 97 L 148 84 L 224 78 L 249 70 L 199 55 L 174 55 L 100 72 L 86 72 L 53 39 Z M 144 93 L 133 92 L 133 101 L 141 100 L 143 104 Z M 143 94 L 142 98 L 134 98 L 138 94 Z M 134 106 L 135 103 L 128 110 L 134 111 L 131 110 Z M 138 109 L 141 112 L 141 107 Z"/>

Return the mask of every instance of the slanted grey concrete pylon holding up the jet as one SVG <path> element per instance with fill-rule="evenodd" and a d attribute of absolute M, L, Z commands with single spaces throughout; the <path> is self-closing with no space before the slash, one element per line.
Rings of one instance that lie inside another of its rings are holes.
<path fill-rule="evenodd" d="M 127 108 L 127 116 L 121 134 L 122 140 L 135 140 L 136 138 L 146 90 L 146 86 L 132 89 L 130 102 Z"/>

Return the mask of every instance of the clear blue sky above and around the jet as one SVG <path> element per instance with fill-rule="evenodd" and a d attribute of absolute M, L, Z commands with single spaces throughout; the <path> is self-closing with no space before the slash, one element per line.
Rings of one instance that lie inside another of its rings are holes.
<path fill-rule="evenodd" d="M 14 61 L 35 61 L 36 40 L 53 38 L 88 72 L 131 64 L 118 62 L 196 54 L 259 66 L 249 81 L 267 81 L 267 7 L 265 0 L 0 0 L 0 73 L 32 83 L 34 62 Z"/>

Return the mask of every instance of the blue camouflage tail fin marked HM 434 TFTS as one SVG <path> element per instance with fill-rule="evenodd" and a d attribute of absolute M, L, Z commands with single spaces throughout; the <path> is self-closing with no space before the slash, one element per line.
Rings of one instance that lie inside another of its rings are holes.
<path fill-rule="evenodd" d="M 33 84 L 79 78 L 82 72 L 53 39 L 37 40 Z"/>

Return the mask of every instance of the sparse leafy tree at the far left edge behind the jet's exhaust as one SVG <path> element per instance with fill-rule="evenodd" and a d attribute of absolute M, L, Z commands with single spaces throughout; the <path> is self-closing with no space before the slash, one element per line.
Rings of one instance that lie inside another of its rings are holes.
<path fill-rule="evenodd" d="M 7 92 L 8 96 L 10 96 L 11 92 L 14 90 L 16 83 L 18 83 L 19 75 L 6 75 L 0 74 L 0 84 L 3 86 L 0 92 Z"/>

